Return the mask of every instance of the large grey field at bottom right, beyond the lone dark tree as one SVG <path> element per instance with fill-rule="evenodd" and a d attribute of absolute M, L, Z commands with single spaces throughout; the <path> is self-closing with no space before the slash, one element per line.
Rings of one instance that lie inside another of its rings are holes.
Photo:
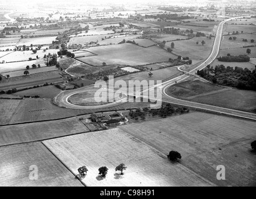
<path fill-rule="evenodd" d="M 165 154 L 178 151 L 180 165 L 218 186 L 256 185 L 254 121 L 194 112 L 118 128 Z M 217 180 L 217 165 L 225 166 L 226 180 Z"/>

